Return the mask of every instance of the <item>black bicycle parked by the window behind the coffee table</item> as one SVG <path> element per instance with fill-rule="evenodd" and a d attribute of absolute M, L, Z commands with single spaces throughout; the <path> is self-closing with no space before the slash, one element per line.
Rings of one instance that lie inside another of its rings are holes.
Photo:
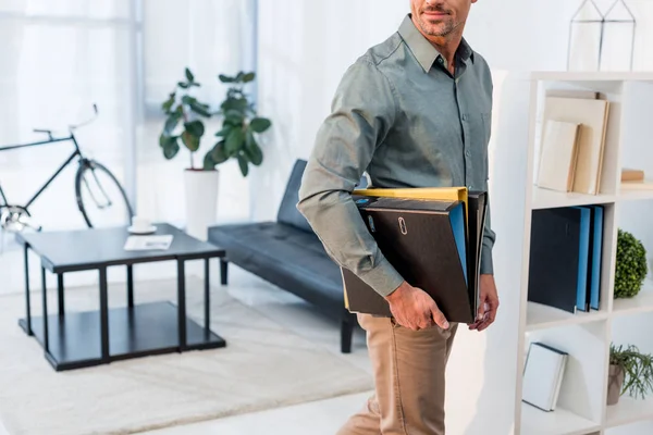
<path fill-rule="evenodd" d="M 54 137 L 51 129 L 35 128 L 35 133 L 47 134 L 48 139 L 36 142 L 0 147 L 0 151 L 9 151 L 20 148 L 40 147 L 51 144 L 72 141 L 75 148 L 73 153 L 65 160 L 65 162 L 59 166 L 54 174 L 48 178 L 45 185 L 41 186 L 24 206 L 10 203 L 4 190 L 2 189 L 2 185 L 0 184 L 0 228 L 8 233 L 22 232 L 25 228 L 32 228 L 40 232 L 42 226 L 35 223 L 29 212 L 29 207 L 62 173 L 62 171 L 69 164 L 72 164 L 73 161 L 75 161 L 75 159 L 77 160 L 77 172 L 75 175 L 75 198 L 77 208 L 79 209 L 79 212 L 82 213 L 88 227 L 100 226 L 100 221 L 95 215 L 96 210 L 101 212 L 110 210 L 116 216 L 114 222 L 120 224 L 131 223 L 131 220 L 134 216 L 134 211 L 127 195 L 125 194 L 125 190 L 121 186 L 118 178 L 101 163 L 84 157 L 82 150 L 79 149 L 79 145 L 77 144 L 75 130 L 90 124 L 98 116 L 97 105 L 94 104 L 93 109 L 94 116 L 89 121 L 86 121 L 82 124 L 69 126 L 67 136 Z M 103 182 L 100 182 L 100 179 Z M 94 206 L 96 209 L 93 208 Z"/>

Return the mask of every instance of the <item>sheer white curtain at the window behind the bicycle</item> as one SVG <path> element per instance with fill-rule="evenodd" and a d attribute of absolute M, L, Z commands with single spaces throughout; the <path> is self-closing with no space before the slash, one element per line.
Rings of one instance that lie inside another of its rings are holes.
<path fill-rule="evenodd" d="M 35 141 L 52 128 L 99 119 L 78 130 L 83 151 L 124 183 L 131 145 L 130 0 L 0 0 L 0 145 Z M 71 144 L 0 152 L 0 183 L 24 203 L 72 152 Z M 44 227 L 83 226 L 71 165 L 34 203 Z"/>

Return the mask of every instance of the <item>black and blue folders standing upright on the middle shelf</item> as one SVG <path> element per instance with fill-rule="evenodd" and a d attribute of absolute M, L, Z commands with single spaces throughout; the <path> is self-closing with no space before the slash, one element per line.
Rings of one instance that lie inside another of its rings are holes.
<path fill-rule="evenodd" d="M 533 210 L 528 300 L 571 313 L 599 310 L 603 206 Z"/>

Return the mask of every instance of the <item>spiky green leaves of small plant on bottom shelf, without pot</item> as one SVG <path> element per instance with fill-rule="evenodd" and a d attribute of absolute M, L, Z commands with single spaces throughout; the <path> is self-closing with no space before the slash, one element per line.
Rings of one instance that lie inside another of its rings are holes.
<path fill-rule="evenodd" d="M 634 398 L 646 398 L 653 391 L 653 356 L 642 353 L 634 345 L 611 345 L 609 363 L 624 373 L 620 394 L 629 393 Z"/>

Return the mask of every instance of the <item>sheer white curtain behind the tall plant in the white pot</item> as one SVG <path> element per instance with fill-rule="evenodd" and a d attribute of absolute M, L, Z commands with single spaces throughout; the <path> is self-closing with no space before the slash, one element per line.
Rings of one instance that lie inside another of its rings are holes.
<path fill-rule="evenodd" d="M 189 67 L 201 88 L 194 96 L 217 110 L 226 87 L 219 74 L 235 75 L 256 69 L 255 0 L 145 0 L 144 76 L 145 122 L 139 132 L 138 212 L 146 217 L 184 223 L 183 171 L 189 153 L 182 147 L 167 161 L 159 148 L 164 117 L 161 103 L 168 99 Z M 256 88 L 248 88 L 255 97 Z M 219 120 L 209 121 L 201 148 L 195 159 L 201 164 L 215 142 Z M 249 216 L 248 183 L 235 162 L 219 166 L 219 221 L 241 221 Z"/>

